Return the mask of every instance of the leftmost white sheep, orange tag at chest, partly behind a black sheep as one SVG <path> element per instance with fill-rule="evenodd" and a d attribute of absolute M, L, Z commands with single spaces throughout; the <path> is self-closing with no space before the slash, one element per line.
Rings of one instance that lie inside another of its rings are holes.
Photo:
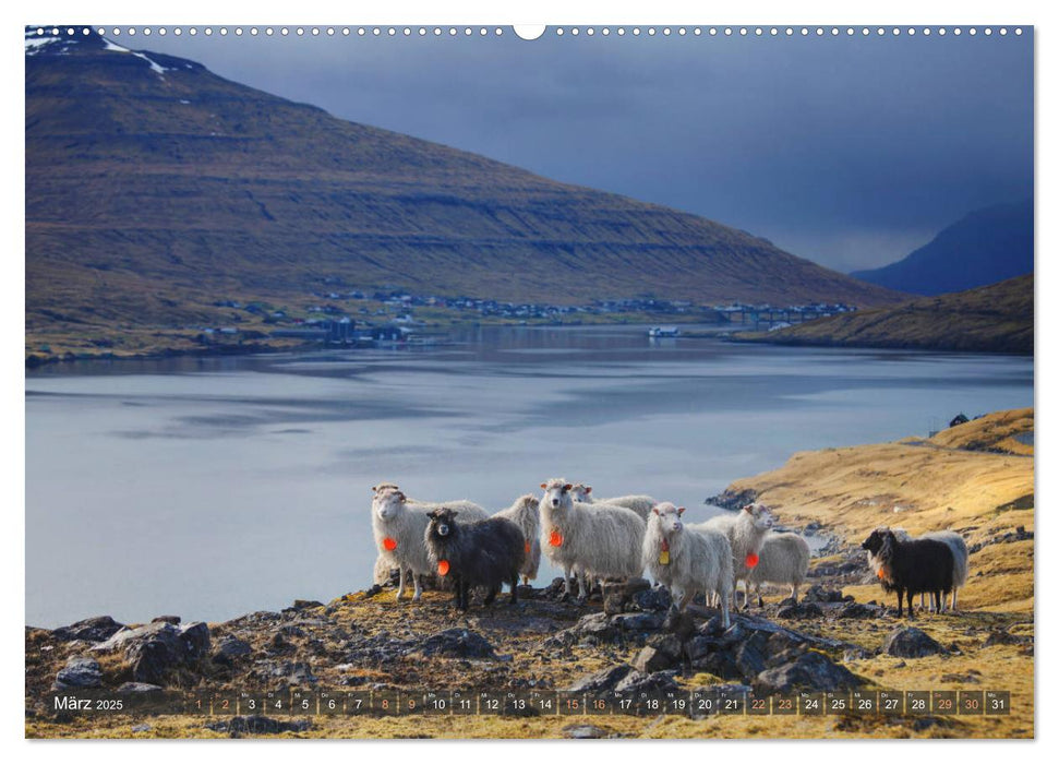
<path fill-rule="evenodd" d="M 385 568 L 387 571 L 400 571 L 400 583 L 397 586 L 397 599 L 405 595 L 407 576 L 412 576 L 414 594 L 412 601 L 418 601 L 423 594 L 420 576 L 432 573 L 430 560 L 426 558 L 426 525 L 430 518 L 426 513 L 442 506 L 459 512 L 461 521 L 473 522 L 485 520 L 485 510 L 478 504 L 460 499 L 446 502 L 412 502 L 405 493 L 393 485 L 381 487 L 372 499 L 372 534 L 375 547 L 378 549 L 380 560 L 375 562 L 375 576 Z"/>

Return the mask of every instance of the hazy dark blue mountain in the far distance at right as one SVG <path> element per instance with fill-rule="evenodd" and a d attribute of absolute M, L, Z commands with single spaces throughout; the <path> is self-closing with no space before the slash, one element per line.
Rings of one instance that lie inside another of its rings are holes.
<path fill-rule="evenodd" d="M 850 274 L 916 295 L 941 295 L 1033 273 L 1033 201 L 976 210 L 904 260 Z"/>

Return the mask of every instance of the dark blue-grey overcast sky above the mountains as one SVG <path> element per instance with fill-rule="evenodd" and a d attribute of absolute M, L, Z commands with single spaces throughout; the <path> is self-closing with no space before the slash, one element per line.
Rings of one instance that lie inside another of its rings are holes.
<path fill-rule="evenodd" d="M 1032 31 L 120 38 L 335 116 L 666 204 L 840 271 L 1033 193 Z"/>

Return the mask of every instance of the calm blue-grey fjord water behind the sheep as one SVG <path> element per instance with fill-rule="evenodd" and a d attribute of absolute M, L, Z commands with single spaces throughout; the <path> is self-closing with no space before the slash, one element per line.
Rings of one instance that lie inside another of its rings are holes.
<path fill-rule="evenodd" d="M 1033 405 L 1021 357 L 652 342 L 642 326 L 454 339 L 27 372 L 26 622 L 215 621 L 365 588 L 382 480 L 496 510 L 565 476 L 702 520 L 706 497 L 796 451 Z"/>

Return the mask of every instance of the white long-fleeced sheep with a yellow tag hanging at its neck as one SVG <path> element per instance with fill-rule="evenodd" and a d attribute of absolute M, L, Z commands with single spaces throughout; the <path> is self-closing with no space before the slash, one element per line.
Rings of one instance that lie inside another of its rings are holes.
<path fill-rule="evenodd" d="M 684 525 L 684 508 L 662 502 L 652 508 L 643 534 L 643 568 L 660 584 L 679 597 L 681 610 L 687 608 L 696 594 L 717 595 L 721 605 L 724 628 L 729 619 L 729 597 L 732 592 L 732 545 L 721 530 L 693 530 Z"/>

